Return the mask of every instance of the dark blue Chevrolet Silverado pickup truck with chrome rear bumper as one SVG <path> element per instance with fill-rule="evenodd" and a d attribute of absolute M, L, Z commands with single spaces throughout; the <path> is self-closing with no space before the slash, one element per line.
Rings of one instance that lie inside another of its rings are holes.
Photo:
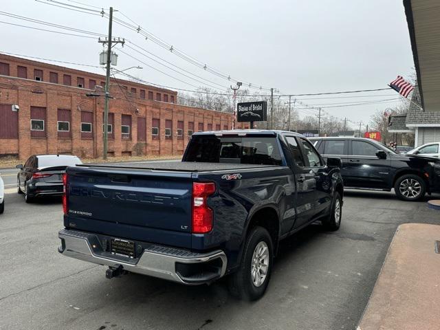
<path fill-rule="evenodd" d="M 338 230 L 340 159 L 289 131 L 192 135 L 181 162 L 80 165 L 63 177 L 58 252 L 186 285 L 228 276 L 263 296 L 281 239 L 314 221 Z"/>

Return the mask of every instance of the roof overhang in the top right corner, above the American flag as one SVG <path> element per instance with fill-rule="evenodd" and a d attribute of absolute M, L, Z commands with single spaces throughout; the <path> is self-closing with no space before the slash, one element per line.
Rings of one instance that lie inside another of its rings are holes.
<path fill-rule="evenodd" d="M 440 1 L 404 0 L 421 105 L 440 111 Z"/>

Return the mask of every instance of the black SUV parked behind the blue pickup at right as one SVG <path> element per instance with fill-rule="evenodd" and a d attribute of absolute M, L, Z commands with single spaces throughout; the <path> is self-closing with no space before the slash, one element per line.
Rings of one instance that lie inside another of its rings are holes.
<path fill-rule="evenodd" d="M 313 137 L 323 157 L 342 159 L 346 188 L 391 191 L 404 201 L 418 201 L 440 191 L 439 159 L 401 155 L 392 148 L 360 137 Z"/>

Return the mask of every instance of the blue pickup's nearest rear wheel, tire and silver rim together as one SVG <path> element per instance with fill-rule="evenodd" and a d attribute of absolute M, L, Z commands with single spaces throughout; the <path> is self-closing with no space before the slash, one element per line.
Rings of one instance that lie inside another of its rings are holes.
<path fill-rule="evenodd" d="M 244 300 L 261 298 L 272 272 L 273 243 L 263 227 L 252 228 L 245 241 L 239 270 L 230 275 L 230 293 Z"/>

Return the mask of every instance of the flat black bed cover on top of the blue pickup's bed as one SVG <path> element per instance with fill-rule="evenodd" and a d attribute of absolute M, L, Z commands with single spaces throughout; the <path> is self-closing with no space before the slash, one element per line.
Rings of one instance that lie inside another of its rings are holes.
<path fill-rule="evenodd" d="M 184 172 L 206 172 L 212 170 L 239 170 L 248 168 L 270 168 L 275 165 L 203 163 L 203 162 L 153 162 L 153 163 L 120 163 L 120 164 L 83 164 L 87 167 L 136 168 L 144 170 L 176 170 Z M 279 167 L 279 166 L 276 166 Z"/>

